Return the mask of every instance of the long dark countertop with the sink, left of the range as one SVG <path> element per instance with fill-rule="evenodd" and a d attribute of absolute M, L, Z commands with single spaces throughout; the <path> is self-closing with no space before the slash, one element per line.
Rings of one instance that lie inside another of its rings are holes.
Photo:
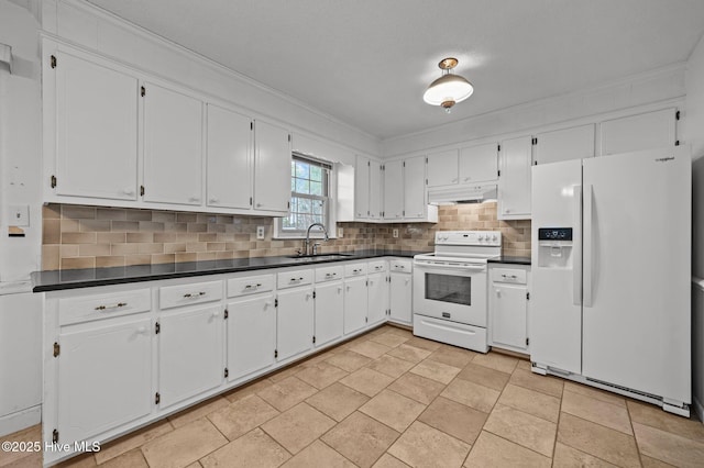
<path fill-rule="evenodd" d="M 127 282 L 155 281 L 161 279 L 187 278 L 206 275 L 221 275 L 268 268 L 297 267 L 333 261 L 362 260 L 375 257 L 407 257 L 420 254 L 415 250 L 358 250 L 344 256 L 326 258 L 256 257 L 231 260 L 185 261 L 179 264 L 136 265 L 130 267 L 85 268 L 75 270 L 34 271 L 34 292 L 59 291 L 64 289 L 92 288 L 97 286 L 122 285 Z"/>

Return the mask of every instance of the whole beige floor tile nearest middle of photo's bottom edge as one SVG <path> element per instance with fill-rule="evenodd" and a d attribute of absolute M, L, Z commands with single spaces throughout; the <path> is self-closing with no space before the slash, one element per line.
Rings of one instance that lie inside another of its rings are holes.
<path fill-rule="evenodd" d="M 371 467 L 396 441 L 398 433 L 359 411 L 321 437 L 355 465 Z"/>

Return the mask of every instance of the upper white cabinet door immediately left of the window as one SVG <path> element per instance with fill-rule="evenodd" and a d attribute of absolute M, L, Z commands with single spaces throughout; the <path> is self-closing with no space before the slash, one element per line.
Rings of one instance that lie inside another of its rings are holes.
<path fill-rule="evenodd" d="M 268 122 L 254 124 L 254 208 L 288 212 L 290 201 L 290 134 Z"/>

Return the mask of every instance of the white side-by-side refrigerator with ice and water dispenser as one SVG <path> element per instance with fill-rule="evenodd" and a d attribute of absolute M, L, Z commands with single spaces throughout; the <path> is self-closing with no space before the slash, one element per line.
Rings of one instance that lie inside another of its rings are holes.
<path fill-rule="evenodd" d="M 534 166 L 532 369 L 689 415 L 689 148 Z"/>

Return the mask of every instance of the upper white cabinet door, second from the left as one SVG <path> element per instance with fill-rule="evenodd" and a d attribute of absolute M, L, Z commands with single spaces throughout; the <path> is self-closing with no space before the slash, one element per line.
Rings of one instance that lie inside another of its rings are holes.
<path fill-rule="evenodd" d="M 144 86 L 144 201 L 201 204 L 202 102 Z"/>

